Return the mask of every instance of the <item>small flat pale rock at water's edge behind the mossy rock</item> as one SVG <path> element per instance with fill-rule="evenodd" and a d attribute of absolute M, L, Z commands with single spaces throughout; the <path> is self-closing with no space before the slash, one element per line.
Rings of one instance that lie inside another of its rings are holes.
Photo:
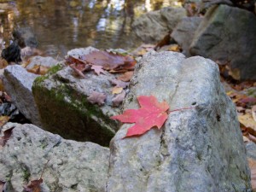
<path fill-rule="evenodd" d="M 44 67 L 54 67 L 58 64 L 59 61 L 56 61 L 54 58 L 50 56 L 34 56 L 32 57 L 29 64 L 26 66 L 26 69 L 32 69 L 32 67 L 44 66 Z"/>

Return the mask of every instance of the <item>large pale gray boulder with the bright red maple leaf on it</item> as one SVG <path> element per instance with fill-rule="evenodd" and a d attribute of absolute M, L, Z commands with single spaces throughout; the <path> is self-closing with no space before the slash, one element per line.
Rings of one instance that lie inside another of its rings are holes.
<path fill-rule="evenodd" d="M 236 108 L 219 81 L 218 66 L 200 56 L 151 52 L 137 64 L 124 109 L 137 96 L 156 96 L 170 110 L 165 125 L 110 145 L 108 192 L 250 191 L 250 172 Z"/>

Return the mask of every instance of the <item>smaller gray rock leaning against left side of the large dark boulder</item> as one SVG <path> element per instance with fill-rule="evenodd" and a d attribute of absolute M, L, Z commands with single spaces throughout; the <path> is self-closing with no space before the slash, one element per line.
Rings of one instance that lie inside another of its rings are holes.
<path fill-rule="evenodd" d="M 186 17 L 181 20 L 174 28 L 171 37 L 179 44 L 183 49 L 183 54 L 190 56 L 189 46 L 195 35 L 195 31 L 201 23 L 201 17 Z"/>

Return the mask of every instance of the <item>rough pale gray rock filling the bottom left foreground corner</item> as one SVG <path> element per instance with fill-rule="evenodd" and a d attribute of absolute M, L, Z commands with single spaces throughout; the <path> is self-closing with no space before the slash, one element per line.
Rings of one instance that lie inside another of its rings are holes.
<path fill-rule="evenodd" d="M 108 148 L 65 140 L 35 125 L 5 126 L 15 126 L 9 141 L 0 148 L 0 180 L 8 182 L 6 192 L 23 191 L 29 181 L 40 177 L 47 160 L 41 192 L 104 190 Z"/>

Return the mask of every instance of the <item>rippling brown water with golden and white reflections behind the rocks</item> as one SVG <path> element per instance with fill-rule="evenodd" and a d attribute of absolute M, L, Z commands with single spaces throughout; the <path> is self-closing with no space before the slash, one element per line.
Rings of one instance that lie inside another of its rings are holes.
<path fill-rule="evenodd" d="M 173 0 L 0 0 L 0 33 L 7 44 L 16 26 L 31 26 L 39 49 L 65 55 L 68 49 L 135 48 L 131 31 L 138 15 L 170 6 Z M 1 43 L 1 42 L 0 42 Z"/>

